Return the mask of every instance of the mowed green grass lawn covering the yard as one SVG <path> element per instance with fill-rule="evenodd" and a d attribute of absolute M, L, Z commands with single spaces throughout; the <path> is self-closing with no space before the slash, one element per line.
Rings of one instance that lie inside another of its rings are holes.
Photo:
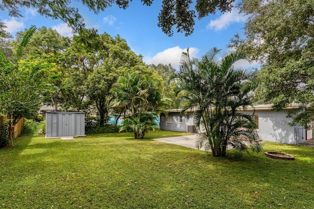
<path fill-rule="evenodd" d="M 0 149 L 0 208 L 314 208 L 314 148 L 265 143 L 239 160 L 131 137 L 18 138 Z"/>

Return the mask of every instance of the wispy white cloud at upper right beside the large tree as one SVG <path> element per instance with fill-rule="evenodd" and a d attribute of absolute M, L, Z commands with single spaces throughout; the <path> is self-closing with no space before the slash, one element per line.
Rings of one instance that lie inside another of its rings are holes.
<path fill-rule="evenodd" d="M 206 26 L 206 29 L 214 29 L 215 31 L 227 28 L 232 23 L 244 23 L 247 17 L 239 14 L 238 9 L 233 9 L 231 12 L 226 12 L 216 20 L 211 20 Z"/>

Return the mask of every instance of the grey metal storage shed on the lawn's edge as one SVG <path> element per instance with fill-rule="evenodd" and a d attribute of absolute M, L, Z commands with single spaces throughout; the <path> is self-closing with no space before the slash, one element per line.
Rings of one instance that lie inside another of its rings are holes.
<path fill-rule="evenodd" d="M 85 136 L 84 112 L 46 112 L 46 138 Z"/>

